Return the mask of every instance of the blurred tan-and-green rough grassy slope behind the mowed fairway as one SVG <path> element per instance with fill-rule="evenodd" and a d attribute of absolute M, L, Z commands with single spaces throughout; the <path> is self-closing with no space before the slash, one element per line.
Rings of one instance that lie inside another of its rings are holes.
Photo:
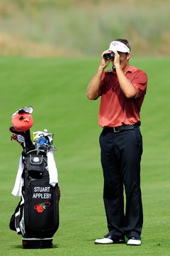
<path fill-rule="evenodd" d="M 169 1 L 1 0 L 0 55 L 96 56 L 115 38 L 169 56 Z"/>

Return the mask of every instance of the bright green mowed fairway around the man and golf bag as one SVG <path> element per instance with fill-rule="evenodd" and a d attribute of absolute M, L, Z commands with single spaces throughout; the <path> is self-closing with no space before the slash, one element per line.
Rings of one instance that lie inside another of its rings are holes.
<path fill-rule="evenodd" d="M 106 235 L 103 175 L 98 136 L 99 101 L 86 98 L 86 86 L 100 59 L 1 58 L 0 255 L 170 255 L 169 166 L 170 59 L 132 58 L 131 65 L 149 77 L 142 106 L 142 246 L 94 245 Z M 55 134 L 55 160 L 62 192 L 60 228 L 54 247 L 23 250 L 21 236 L 8 223 L 19 201 L 11 195 L 21 146 L 11 142 L 11 115 L 23 106 L 34 107 L 31 132 Z"/>

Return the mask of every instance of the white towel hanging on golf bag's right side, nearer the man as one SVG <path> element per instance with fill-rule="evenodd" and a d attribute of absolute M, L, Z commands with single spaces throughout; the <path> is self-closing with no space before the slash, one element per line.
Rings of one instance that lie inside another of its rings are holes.
<path fill-rule="evenodd" d="M 55 158 L 52 151 L 47 152 L 47 166 L 50 176 L 50 185 L 55 186 L 58 183 L 58 172 L 55 164 Z"/>

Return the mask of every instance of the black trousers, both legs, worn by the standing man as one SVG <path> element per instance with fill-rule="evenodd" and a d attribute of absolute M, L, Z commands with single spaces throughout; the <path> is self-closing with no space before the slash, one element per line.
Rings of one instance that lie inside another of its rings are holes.
<path fill-rule="evenodd" d="M 142 135 L 140 127 L 114 133 L 103 129 L 100 136 L 103 168 L 103 201 L 109 235 L 140 238 L 143 224 L 140 189 Z M 124 196 L 125 191 L 125 209 Z"/>

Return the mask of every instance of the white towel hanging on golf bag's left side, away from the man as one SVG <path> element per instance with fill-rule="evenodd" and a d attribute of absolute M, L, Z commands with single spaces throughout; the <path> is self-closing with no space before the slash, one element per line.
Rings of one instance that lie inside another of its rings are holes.
<path fill-rule="evenodd" d="M 22 156 L 20 156 L 18 172 L 16 175 L 16 183 L 12 191 L 13 196 L 21 196 L 23 168 L 24 168 L 23 159 L 22 159 Z"/>

